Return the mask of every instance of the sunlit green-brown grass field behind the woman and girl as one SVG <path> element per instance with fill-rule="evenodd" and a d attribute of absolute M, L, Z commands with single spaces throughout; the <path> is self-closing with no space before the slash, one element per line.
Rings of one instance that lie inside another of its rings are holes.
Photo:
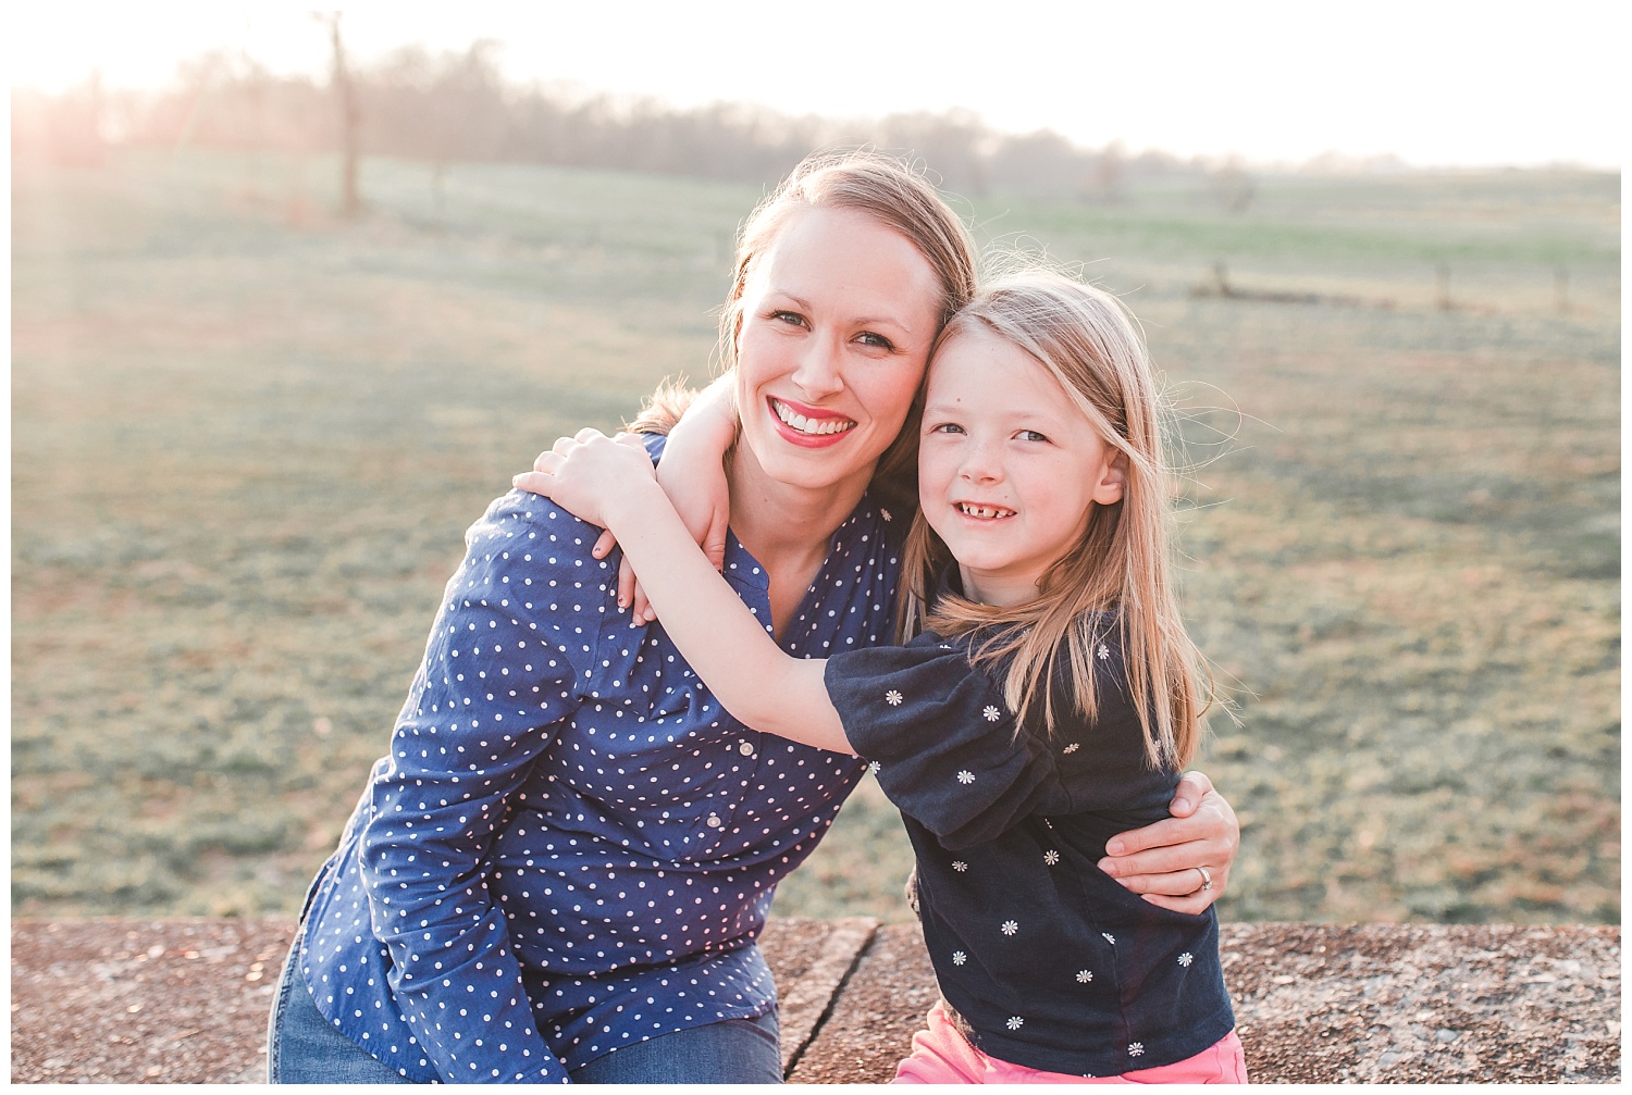
<path fill-rule="evenodd" d="M 18 914 L 294 912 L 463 527 L 707 372 L 757 191 L 364 166 L 361 224 L 320 160 L 15 166 Z M 1619 922 L 1619 180 L 966 212 L 1124 294 L 1186 408 L 1185 605 L 1239 718 L 1200 762 L 1244 821 L 1222 914 Z M 1390 307 L 1195 295 L 1216 264 Z M 906 919 L 907 867 L 867 782 L 777 911 Z"/>

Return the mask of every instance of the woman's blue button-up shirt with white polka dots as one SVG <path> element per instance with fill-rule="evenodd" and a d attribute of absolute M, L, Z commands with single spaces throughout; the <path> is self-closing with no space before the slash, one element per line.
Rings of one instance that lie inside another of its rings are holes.
<path fill-rule="evenodd" d="M 782 648 L 891 641 L 899 565 L 867 499 Z M 561 1082 L 658 1035 L 775 1007 L 777 880 L 862 774 L 726 715 L 617 609 L 599 530 L 512 491 L 467 534 L 424 663 L 307 898 L 318 1010 L 418 1082 Z M 725 574 L 770 618 L 730 537 Z"/>

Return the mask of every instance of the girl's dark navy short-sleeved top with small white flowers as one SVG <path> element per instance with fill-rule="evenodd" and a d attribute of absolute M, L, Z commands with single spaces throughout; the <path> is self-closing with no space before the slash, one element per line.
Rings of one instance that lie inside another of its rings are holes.
<path fill-rule="evenodd" d="M 968 636 L 837 654 L 826 682 L 912 837 L 955 1023 L 1000 1061 L 1105 1077 L 1191 1057 L 1235 1020 L 1213 911 L 1169 912 L 1097 867 L 1110 837 L 1167 816 L 1178 782 L 1146 765 L 1115 623 L 1102 632 L 1098 718 L 1056 682 L 1053 734 L 1015 733 Z"/>

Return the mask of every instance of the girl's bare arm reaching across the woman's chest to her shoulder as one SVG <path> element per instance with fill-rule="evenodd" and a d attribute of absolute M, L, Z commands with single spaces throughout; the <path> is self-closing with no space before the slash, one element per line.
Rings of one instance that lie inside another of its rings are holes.
<path fill-rule="evenodd" d="M 855 754 L 827 698 L 826 659 L 782 653 L 697 548 L 643 452 L 584 429 L 534 467 L 516 485 L 617 537 L 663 628 L 733 716 L 761 733 Z"/>

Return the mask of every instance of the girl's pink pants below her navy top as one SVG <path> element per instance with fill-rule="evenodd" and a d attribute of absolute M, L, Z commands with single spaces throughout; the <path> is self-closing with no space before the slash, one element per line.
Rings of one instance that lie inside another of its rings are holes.
<path fill-rule="evenodd" d="M 1235 1031 L 1177 1064 L 1103 1079 L 1040 1072 L 987 1057 L 947 1018 L 945 1005 L 929 1012 L 929 1030 L 912 1035 L 912 1056 L 896 1066 L 893 1084 L 1245 1084 L 1247 1059 Z"/>

